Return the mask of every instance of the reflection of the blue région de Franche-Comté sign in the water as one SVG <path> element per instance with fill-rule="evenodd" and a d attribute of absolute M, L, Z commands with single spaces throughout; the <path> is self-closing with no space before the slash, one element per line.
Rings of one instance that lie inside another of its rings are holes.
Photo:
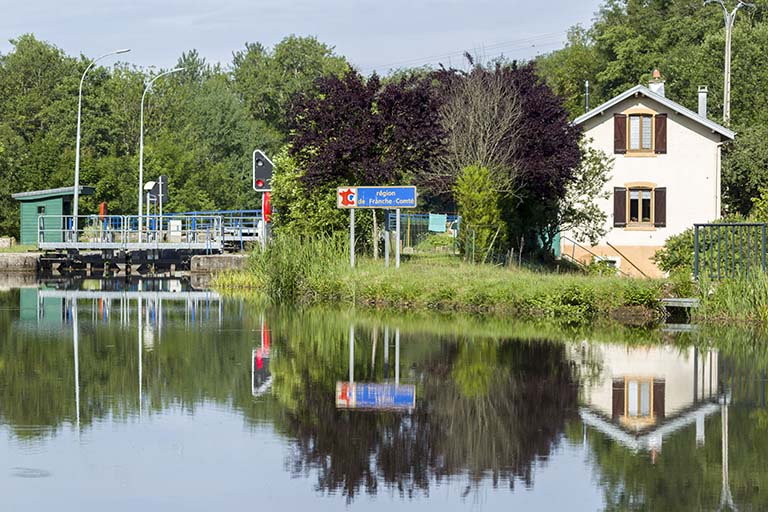
<path fill-rule="evenodd" d="M 413 409 L 413 384 L 336 383 L 336 407 L 341 409 Z"/>

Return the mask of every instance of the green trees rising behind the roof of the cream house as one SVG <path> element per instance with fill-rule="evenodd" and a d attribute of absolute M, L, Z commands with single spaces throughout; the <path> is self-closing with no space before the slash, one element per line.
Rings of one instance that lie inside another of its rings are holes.
<path fill-rule="evenodd" d="M 736 2 L 726 2 L 733 8 Z M 724 212 L 747 215 L 768 185 L 768 10 L 739 11 L 733 29 L 731 117 L 736 141 L 725 146 Z M 584 113 L 584 82 L 596 105 L 641 83 L 654 68 L 666 96 L 697 110 L 697 86 L 709 87 L 709 117 L 722 121 L 725 31 L 716 3 L 607 0 L 591 26 L 574 27 L 565 48 L 538 59 L 547 83 L 565 98 L 571 119 Z"/>

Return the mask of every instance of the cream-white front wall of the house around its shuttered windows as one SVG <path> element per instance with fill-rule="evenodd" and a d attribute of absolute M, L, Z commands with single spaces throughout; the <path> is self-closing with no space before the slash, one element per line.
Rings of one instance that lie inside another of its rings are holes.
<path fill-rule="evenodd" d="M 638 157 L 613 153 L 613 114 L 632 107 L 668 114 L 667 154 Z M 593 139 L 593 147 L 614 158 L 613 175 L 606 184 L 610 197 L 599 202 L 608 213 L 608 234 L 601 244 L 607 241 L 616 246 L 662 246 L 667 238 L 694 223 L 710 222 L 719 217 L 719 134 L 645 97 L 628 98 L 585 121 L 582 127 L 585 135 Z M 638 181 L 666 187 L 666 227 L 650 231 L 613 227 L 614 187 Z M 564 234 L 574 238 L 570 233 Z"/>

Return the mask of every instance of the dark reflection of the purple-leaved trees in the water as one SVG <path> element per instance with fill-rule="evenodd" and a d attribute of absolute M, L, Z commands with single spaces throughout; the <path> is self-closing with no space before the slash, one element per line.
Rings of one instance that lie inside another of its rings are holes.
<path fill-rule="evenodd" d="M 532 465 L 549 456 L 575 413 L 577 387 L 564 346 L 435 346 L 412 363 L 421 384 L 411 414 L 337 411 L 332 382 L 313 381 L 305 371 L 298 379 L 305 399 L 284 424 L 295 439 L 293 473 L 314 470 L 318 490 L 348 499 L 382 484 L 405 496 L 426 494 L 432 479 L 456 475 L 472 484 L 490 477 L 494 486 L 516 479 L 531 485 Z"/>

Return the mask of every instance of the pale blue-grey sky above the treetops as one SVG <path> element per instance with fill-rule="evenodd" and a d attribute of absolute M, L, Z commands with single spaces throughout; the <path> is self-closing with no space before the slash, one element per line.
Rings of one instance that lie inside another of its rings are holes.
<path fill-rule="evenodd" d="M 0 0 L 0 53 L 33 33 L 69 55 L 131 48 L 123 61 L 170 68 L 197 49 L 227 65 L 246 42 L 315 36 L 364 74 L 460 66 L 464 51 L 531 58 L 589 25 L 600 0 Z M 105 64 L 107 64 L 105 62 Z"/>

